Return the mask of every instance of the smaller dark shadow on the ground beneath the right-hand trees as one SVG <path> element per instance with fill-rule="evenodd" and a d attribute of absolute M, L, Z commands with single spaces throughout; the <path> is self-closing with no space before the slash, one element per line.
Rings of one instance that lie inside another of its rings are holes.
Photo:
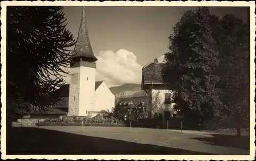
<path fill-rule="evenodd" d="M 230 136 L 221 134 L 211 134 L 212 138 L 190 138 L 204 142 L 209 145 L 225 146 L 249 150 L 250 149 L 250 136 Z"/>

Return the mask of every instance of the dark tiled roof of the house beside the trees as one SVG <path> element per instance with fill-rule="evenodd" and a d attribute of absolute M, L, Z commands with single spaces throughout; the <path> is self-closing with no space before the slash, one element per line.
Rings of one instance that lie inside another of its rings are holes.
<path fill-rule="evenodd" d="M 143 82 L 161 82 L 161 69 L 164 63 L 150 63 L 142 68 Z M 142 83 L 143 83 L 142 82 Z"/>

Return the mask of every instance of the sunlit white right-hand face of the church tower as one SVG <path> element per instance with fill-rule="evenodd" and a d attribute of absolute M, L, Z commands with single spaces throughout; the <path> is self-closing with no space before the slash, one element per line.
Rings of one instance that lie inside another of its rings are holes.
<path fill-rule="evenodd" d="M 95 68 L 80 67 L 79 116 L 95 111 Z"/>

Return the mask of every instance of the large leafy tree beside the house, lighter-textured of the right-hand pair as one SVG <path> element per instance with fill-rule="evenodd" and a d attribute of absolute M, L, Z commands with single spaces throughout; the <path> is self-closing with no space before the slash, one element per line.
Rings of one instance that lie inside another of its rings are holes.
<path fill-rule="evenodd" d="M 163 82 L 174 90 L 175 108 L 198 124 L 219 115 L 221 102 L 215 23 L 208 8 L 186 11 L 169 36 L 169 51 L 162 69 Z"/>

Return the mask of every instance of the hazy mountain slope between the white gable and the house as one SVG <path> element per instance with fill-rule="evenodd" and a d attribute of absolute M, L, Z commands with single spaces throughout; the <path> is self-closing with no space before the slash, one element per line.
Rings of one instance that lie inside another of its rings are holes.
<path fill-rule="evenodd" d="M 111 87 L 110 90 L 119 98 L 145 96 L 145 91 L 141 90 L 141 85 L 138 84 L 124 84 L 121 86 Z"/>

